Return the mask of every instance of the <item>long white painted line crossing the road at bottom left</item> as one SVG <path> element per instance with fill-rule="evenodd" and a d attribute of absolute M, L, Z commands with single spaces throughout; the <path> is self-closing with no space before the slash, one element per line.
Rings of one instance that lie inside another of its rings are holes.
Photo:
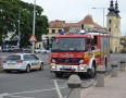
<path fill-rule="evenodd" d="M 66 87 L 60 87 L 61 89 L 66 88 Z M 49 90 L 53 90 L 55 88 L 51 88 L 51 89 L 41 89 L 41 90 L 32 90 L 32 91 L 21 91 L 21 93 L 12 93 L 12 94 L 8 94 L 5 93 L 4 96 L 12 96 L 12 95 L 17 95 L 17 94 L 30 94 L 30 93 L 39 93 L 39 91 L 49 91 Z"/>

